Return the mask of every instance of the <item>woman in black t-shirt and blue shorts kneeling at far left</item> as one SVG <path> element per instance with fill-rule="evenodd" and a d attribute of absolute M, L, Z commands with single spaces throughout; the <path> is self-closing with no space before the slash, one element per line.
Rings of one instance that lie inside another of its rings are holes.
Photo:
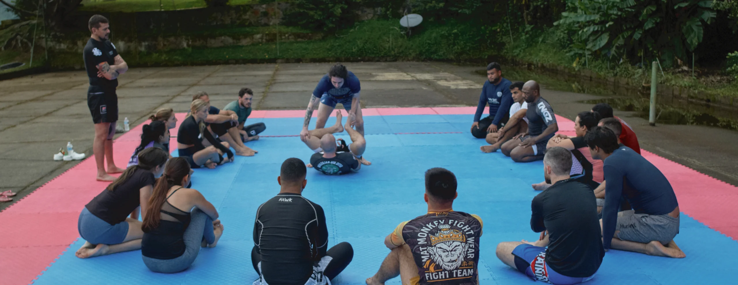
<path fill-rule="evenodd" d="M 77 222 L 86 240 L 75 256 L 88 258 L 141 248 L 141 222 L 137 208 L 145 213 L 155 178 L 162 175 L 169 155 L 156 147 L 139 153 L 139 163 L 85 205 Z M 130 218 L 128 214 L 131 215 Z"/>

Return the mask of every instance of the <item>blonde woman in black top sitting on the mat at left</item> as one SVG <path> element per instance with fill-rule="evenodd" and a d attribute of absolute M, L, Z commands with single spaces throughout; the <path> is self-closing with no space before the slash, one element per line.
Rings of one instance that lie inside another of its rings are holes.
<path fill-rule="evenodd" d="M 190 167 L 199 168 L 204 165 L 213 169 L 218 164 L 233 161 L 233 152 L 230 145 L 218 138 L 213 138 L 209 131 L 205 130 L 204 119 L 207 117 L 207 109 L 210 106 L 201 99 L 196 99 L 190 105 L 190 116 L 187 116 L 182 124 L 179 125 L 177 132 L 177 148 L 179 149 L 179 157 L 187 159 Z M 202 139 L 207 139 L 210 147 L 202 144 Z M 223 154 L 227 153 L 228 158 L 223 159 Z"/>

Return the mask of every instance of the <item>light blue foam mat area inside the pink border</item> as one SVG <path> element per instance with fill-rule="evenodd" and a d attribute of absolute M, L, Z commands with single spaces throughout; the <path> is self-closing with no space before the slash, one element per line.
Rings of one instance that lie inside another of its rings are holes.
<path fill-rule="evenodd" d="M 297 135 L 302 121 L 260 120 L 267 125 L 265 136 Z M 331 120 L 328 124 L 335 122 Z M 376 272 L 389 252 L 384 236 L 399 222 L 427 211 L 423 173 L 433 166 L 457 175 L 455 209 L 483 219 L 480 284 L 534 284 L 506 267 L 494 250 L 499 242 L 537 238 L 528 221 L 530 201 L 538 193 L 531 183 L 542 180 L 542 163 L 514 163 L 500 152 L 480 152 L 485 143 L 466 133 L 470 121 L 469 115 L 368 116 L 365 158 L 373 165 L 342 176 L 308 169 L 304 196 L 323 206 L 328 243 L 350 242 L 354 247 L 354 261 L 334 284 L 364 284 Z M 463 133 L 391 134 L 428 130 Z M 345 133 L 337 137 L 348 139 Z M 235 163 L 217 169 L 196 169 L 193 175 L 193 188 L 218 208 L 225 231 L 218 247 L 202 249 L 190 269 L 176 274 L 151 272 L 139 250 L 79 259 L 74 253 L 84 241 L 77 239 L 34 284 L 251 284 L 257 278 L 250 261 L 256 208 L 279 191 L 280 163 L 290 157 L 308 161 L 312 152 L 298 137 L 265 137 L 247 145 L 260 152 L 251 158 L 237 157 Z M 719 269 L 738 255 L 738 243 L 686 214 L 680 226 L 675 242 L 687 258 L 610 250 L 590 284 L 732 284 L 733 273 Z M 387 284 L 400 282 L 395 278 Z"/>

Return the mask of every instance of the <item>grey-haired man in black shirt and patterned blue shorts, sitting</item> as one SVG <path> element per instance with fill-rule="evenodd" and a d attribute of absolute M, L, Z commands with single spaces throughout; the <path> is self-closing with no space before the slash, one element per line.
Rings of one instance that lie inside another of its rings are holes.
<path fill-rule="evenodd" d="M 570 178 L 571 163 L 563 147 L 548 149 L 543 158 L 543 176 L 553 185 L 531 203 L 531 229 L 541 233 L 539 240 L 497 244 L 497 258 L 534 280 L 588 281 L 604 257 L 594 194 Z"/>

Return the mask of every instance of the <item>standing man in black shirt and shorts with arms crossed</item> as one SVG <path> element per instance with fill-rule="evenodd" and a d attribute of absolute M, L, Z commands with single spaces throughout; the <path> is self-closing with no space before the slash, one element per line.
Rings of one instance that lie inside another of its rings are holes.
<path fill-rule="evenodd" d="M 97 180 L 113 181 L 109 173 L 120 173 L 125 169 L 115 166 L 113 161 L 113 136 L 118 121 L 118 76 L 128 71 L 128 64 L 120 57 L 113 43 L 108 41 L 110 24 L 102 15 L 93 15 L 88 23 L 92 35 L 83 50 L 83 60 L 90 87 L 87 89 L 87 106 L 94 122 L 92 152 L 97 163 Z M 105 169 L 105 159 L 108 170 Z"/>

